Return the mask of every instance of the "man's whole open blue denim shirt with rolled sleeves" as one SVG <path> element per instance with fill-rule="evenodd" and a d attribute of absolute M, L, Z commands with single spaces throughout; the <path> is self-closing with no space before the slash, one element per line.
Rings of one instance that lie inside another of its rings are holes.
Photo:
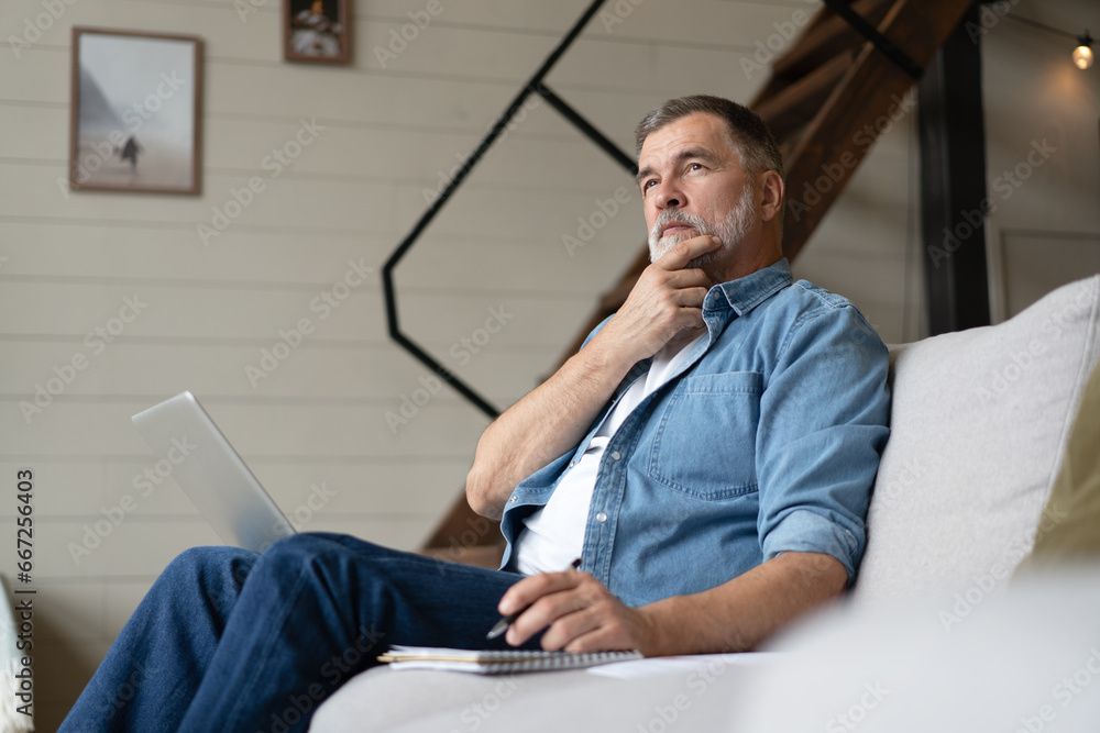
<path fill-rule="evenodd" d="M 627 606 L 713 588 L 785 551 L 832 555 L 850 584 L 889 434 L 886 346 L 848 300 L 793 282 L 785 259 L 711 288 L 703 320 L 706 338 L 604 452 L 581 569 Z M 513 491 L 502 567 L 522 519 L 651 360 L 631 368 L 575 449 Z"/>

